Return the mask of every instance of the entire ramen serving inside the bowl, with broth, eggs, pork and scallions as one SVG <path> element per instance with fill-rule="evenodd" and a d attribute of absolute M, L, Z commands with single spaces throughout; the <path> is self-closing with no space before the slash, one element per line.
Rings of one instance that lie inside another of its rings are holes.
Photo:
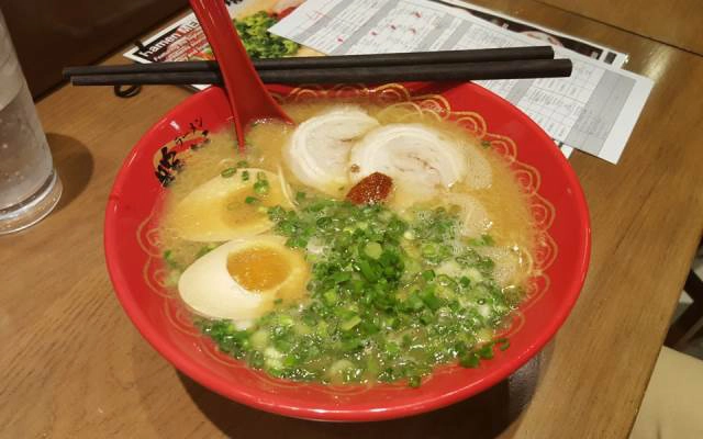
<path fill-rule="evenodd" d="M 504 160 L 406 105 L 284 105 L 237 153 L 188 153 L 160 226 L 171 283 L 222 352 L 297 381 L 405 380 L 507 347 L 532 270 Z"/>

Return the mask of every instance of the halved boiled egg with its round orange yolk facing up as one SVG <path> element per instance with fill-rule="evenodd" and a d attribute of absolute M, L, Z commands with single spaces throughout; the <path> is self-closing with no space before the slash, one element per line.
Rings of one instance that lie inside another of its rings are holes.
<path fill-rule="evenodd" d="M 277 300 L 297 303 L 306 295 L 310 267 L 286 238 L 259 235 L 223 244 L 183 271 L 178 292 L 197 314 L 248 327 Z"/>

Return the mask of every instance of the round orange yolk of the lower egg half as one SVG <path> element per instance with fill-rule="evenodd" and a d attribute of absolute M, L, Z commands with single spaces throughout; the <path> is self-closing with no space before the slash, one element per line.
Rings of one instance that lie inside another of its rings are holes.
<path fill-rule="evenodd" d="M 280 285 L 290 270 L 286 255 L 270 247 L 245 248 L 227 257 L 227 272 L 250 292 L 263 292 Z"/>

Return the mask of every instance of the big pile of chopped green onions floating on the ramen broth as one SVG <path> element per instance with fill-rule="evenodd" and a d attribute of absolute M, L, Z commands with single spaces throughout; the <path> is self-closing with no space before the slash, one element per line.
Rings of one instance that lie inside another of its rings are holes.
<path fill-rule="evenodd" d="M 253 204 L 272 184 L 247 171 Z M 401 217 L 322 196 L 297 192 L 304 202 L 295 210 L 255 205 L 287 247 L 309 248 L 309 299 L 272 307 L 246 330 L 202 325 L 223 352 L 282 379 L 420 386 L 436 364 L 476 368 L 507 347 L 491 340 L 520 291 L 501 289 L 492 260 L 475 248 L 492 245 L 488 235 L 461 238 L 459 211 L 421 206 Z"/>

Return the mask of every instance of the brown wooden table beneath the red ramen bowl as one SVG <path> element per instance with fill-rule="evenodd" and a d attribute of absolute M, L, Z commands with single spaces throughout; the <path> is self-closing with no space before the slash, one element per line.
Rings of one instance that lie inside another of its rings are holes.
<path fill-rule="evenodd" d="M 591 269 L 573 313 L 543 356 L 532 402 L 502 434 L 625 438 L 701 235 L 703 58 L 533 0 L 482 4 L 629 53 L 627 67 L 656 81 L 617 166 L 579 153 L 571 159 L 593 222 Z M 115 55 L 109 63 L 123 59 Z M 0 436 L 499 434 L 510 420 L 505 407 L 515 406 L 505 387 L 405 420 L 309 423 L 214 395 L 179 375 L 140 337 L 108 280 L 103 209 L 129 149 L 187 95 L 175 87 L 146 87 L 121 100 L 109 88 L 65 87 L 38 103 L 65 194 L 41 224 L 0 237 Z"/>

